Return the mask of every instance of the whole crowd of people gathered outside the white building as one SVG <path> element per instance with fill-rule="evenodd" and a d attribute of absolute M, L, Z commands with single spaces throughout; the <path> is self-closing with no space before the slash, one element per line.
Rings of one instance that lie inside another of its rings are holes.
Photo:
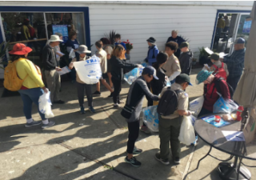
<path fill-rule="evenodd" d="M 78 74 L 74 76 L 77 85 L 80 113 L 85 114 L 85 89 L 89 110 L 95 113 L 93 96 L 101 94 L 100 82 L 102 82 L 110 90 L 109 98 L 113 98 L 114 108 L 120 108 L 120 104 L 125 103 L 121 113 L 126 118 L 129 130 L 125 161 L 132 166 L 141 166 L 141 162 L 134 158 L 134 154 L 139 154 L 142 150 L 138 149 L 134 144 L 140 130 L 139 120 L 142 111 L 142 100 L 146 96 L 148 106 L 157 105 L 158 101 L 161 101 L 158 94 L 161 94 L 160 97 L 162 97 L 166 91 L 173 90 L 178 98 L 177 110 L 174 110 L 174 114 L 159 115 L 160 153 L 155 154 L 155 158 L 165 165 L 169 164 L 169 148 L 171 147 L 174 162 L 180 163 L 181 149 L 178 135 L 182 124 L 182 116 L 191 115 L 190 110 L 188 110 L 189 96 L 186 93 L 186 87 L 192 86 L 190 73 L 193 53 L 189 49 L 189 43 L 182 42 L 181 38 L 178 37 L 177 30 L 173 30 L 172 37 L 168 38 L 165 52 L 159 52 L 156 40 L 153 37 L 147 39 L 146 42 L 149 45 L 148 54 L 145 59 L 147 66 L 142 70 L 142 76 L 132 83 L 126 102 L 123 102 L 119 98 L 122 90 L 123 70 L 132 70 L 135 67 L 142 68 L 142 65 L 125 62 L 126 46 L 121 42 L 121 35 L 116 34 L 114 38 L 116 42 L 114 45 L 110 45 L 110 41 L 106 38 L 95 42 L 97 48 L 96 55 L 100 59 L 102 77 L 97 83 L 94 93 L 91 91 L 92 85 L 82 82 Z M 76 34 L 73 33 L 70 34 L 70 41 L 66 42 L 67 50 L 73 49 L 76 54 L 74 58 L 70 59 L 70 70 L 74 69 L 74 62 L 85 61 L 90 58 L 88 54 L 91 53 L 87 46 L 79 45 L 75 39 Z M 38 126 L 41 123 L 42 128 L 54 126 L 55 122 L 46 119 L 40 111 L 39 114 L 42 122 L 36 122 L 31 117 L 32 103 L 34 102 L 38 106 L 38 98 L 43 93 L 50 91 L 50 99 L 53 103 L 65 103 L 59 98 L 61 79 L 58 71 L 62 69 L 58 66 L 58 59 L 56 57 L 57 55 L 62 55 L 58 54 L 60 42 L 62 42 L 62 34 L 51 35 L 49 43 L 43 49 L 42 74 L 46 78 L 46 85 L 42 81 L 41 70 L 27 59 L 27 55 L 32 51 L 30 47 L 18 43 L 10 51 L 10 54 L 13 54 L 11 61 L 16 63 L 18 77 L 23 81 L 22 88 L 18 92 L 22 96 L 26 127 Z M 205 100 L 199 116 L 213 113 L 214 103 L 218 100 L 220 94 L 223 98 L 232 98 L 230 89 L 235 90 L 242 75 L 245 55 L 244 45 L 245 40 L 238 38 L 234 42 L 233 54 L 224 58 L 219 58 L 218 54 L 211 54 L 210 59 L 214 65 L 208 67 L 208 70 L 202 70 L 198 73 L 197 84 L 202 82 L 205 84 L 203 93 Z M 178 50 L 180 50 L 181 54 L 178 54 L 177 57 L 175 54 Z M 110 84 L 106 82 L 107 77 Z M 166 87 L 167 82 L 171 83 L 170 88 Z M 141 130 L 148 133 L 145 124 L 142 125 Z"/>

